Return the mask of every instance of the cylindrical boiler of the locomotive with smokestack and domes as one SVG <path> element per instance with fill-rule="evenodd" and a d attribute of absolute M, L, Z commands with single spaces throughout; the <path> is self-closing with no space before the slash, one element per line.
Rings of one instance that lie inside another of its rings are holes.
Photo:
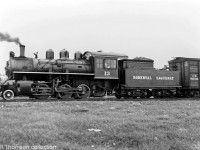
<path fill-rule="evenodd" d="M 60 51 L 60 59 L 54 59 L 54 52 L 51 49 L 46 51 L 46 59 L 25 57 L 24 51 L 25 46 L 20 45 L 19 57 L 13 57 L 13 52 L 10 53 L 10 59 L 6 66 L 6 74 L 8 77 L 10 77 L 13 72 L 91 73 L 93 71 L 92 62 L 89 59 L 82 59 L 82 54 L 80 52 L 76 52 L 75 59 L 72 60 L 69 59 L 69 53 L 67 50 Z M 24 75 L 24 77 L 25 76 L 28 77 L 28 75 Z"/>

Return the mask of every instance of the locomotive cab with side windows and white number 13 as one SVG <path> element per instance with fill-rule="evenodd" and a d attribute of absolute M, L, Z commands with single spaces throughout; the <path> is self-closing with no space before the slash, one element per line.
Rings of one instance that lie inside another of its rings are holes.
<path fill-rule="evenodd" d="M 116 53 L 85 52 L 83 59 L 92 62 L 94 72 L 92 95 L 103 96 L 105 93 L 111 94 L 118 83 L 118 60 L 128 58 L 128 56 Z"/>

